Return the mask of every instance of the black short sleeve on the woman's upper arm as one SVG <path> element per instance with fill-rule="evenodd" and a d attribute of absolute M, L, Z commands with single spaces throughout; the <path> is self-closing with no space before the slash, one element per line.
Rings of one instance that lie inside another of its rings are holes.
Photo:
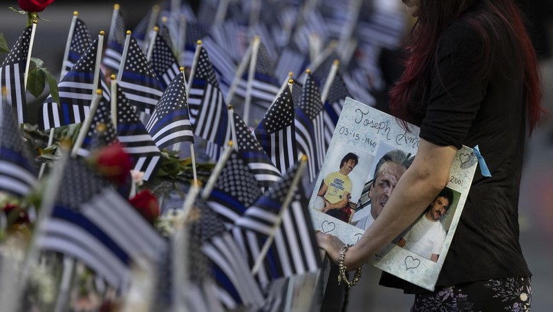
<path fill-rule="evenodd" d="M 460 149 L 486 94 L 481 75 L 482 41 L 476 30 L 456 22 L 445 30 L 431 61 L 431 90 L 420 137 Z"/>

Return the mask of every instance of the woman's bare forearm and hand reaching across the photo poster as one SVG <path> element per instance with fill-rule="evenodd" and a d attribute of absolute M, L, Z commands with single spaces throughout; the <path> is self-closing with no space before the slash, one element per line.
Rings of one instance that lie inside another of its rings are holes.
<path fill-rule="evenodd" d="M 439 146 L 421 138 L 413 164 L 398 181 L 384 210 L 366 230 L 344 260 L 348 270 L 362 266 L 400 235 L 426 209 L 447 184 L 456 147 Z M 344 244 L 332 235 L 317 233 L 317 241 L 337 262 Z"/>

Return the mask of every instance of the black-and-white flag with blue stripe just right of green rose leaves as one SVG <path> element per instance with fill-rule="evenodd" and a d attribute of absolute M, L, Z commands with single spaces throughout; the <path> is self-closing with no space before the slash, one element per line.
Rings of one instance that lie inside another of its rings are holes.
<path fill-rule="evenodd" d="M 57 84 L 59 105 L 53 102 L 52 97 L 46 98 L 38 112 L 40 129 L 48 130 L 82 122 L 88 115 L 93 93 L 98 87 L 103 90 L 102 97 L 109 102 L 110 93 L 104 75 L 101 71 L 95 73 L 97 47 L 98 39 L 95 39 Z M 94 86 L 94 75 L 100 76 L 98 86 Z"/>

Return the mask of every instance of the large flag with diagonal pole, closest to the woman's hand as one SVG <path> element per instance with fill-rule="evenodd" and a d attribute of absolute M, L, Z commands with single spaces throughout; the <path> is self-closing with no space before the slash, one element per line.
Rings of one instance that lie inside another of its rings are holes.
<path fill-rule="evenodd" d="M 297 185 L 292 185 L 299 164 L 247 208 L 232 230 L 234 239 L 246 251 L 251 267 L 265 241 L 274 234 L 274 241 L 257 275 L 262 287 L 279 277 L 315 272 L 321 266 L 307 201 L 303 192 L 297 190 Z M 288 207 L 282 207 L 288 192 L 294 192 L 292 202 Z M 279 215 L 281 223 L 274 229 Z"/>

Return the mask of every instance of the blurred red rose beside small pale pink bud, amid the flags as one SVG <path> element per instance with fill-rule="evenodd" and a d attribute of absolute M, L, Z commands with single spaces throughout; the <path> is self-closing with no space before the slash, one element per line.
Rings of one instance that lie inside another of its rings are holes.
<path fill-rule="evenodd" d="M 125 183 L 133 167 L 131 156 L 126 154 L 118 142 L 102 147 L 93 159 L 100 174 L 117 185 Z"/>

